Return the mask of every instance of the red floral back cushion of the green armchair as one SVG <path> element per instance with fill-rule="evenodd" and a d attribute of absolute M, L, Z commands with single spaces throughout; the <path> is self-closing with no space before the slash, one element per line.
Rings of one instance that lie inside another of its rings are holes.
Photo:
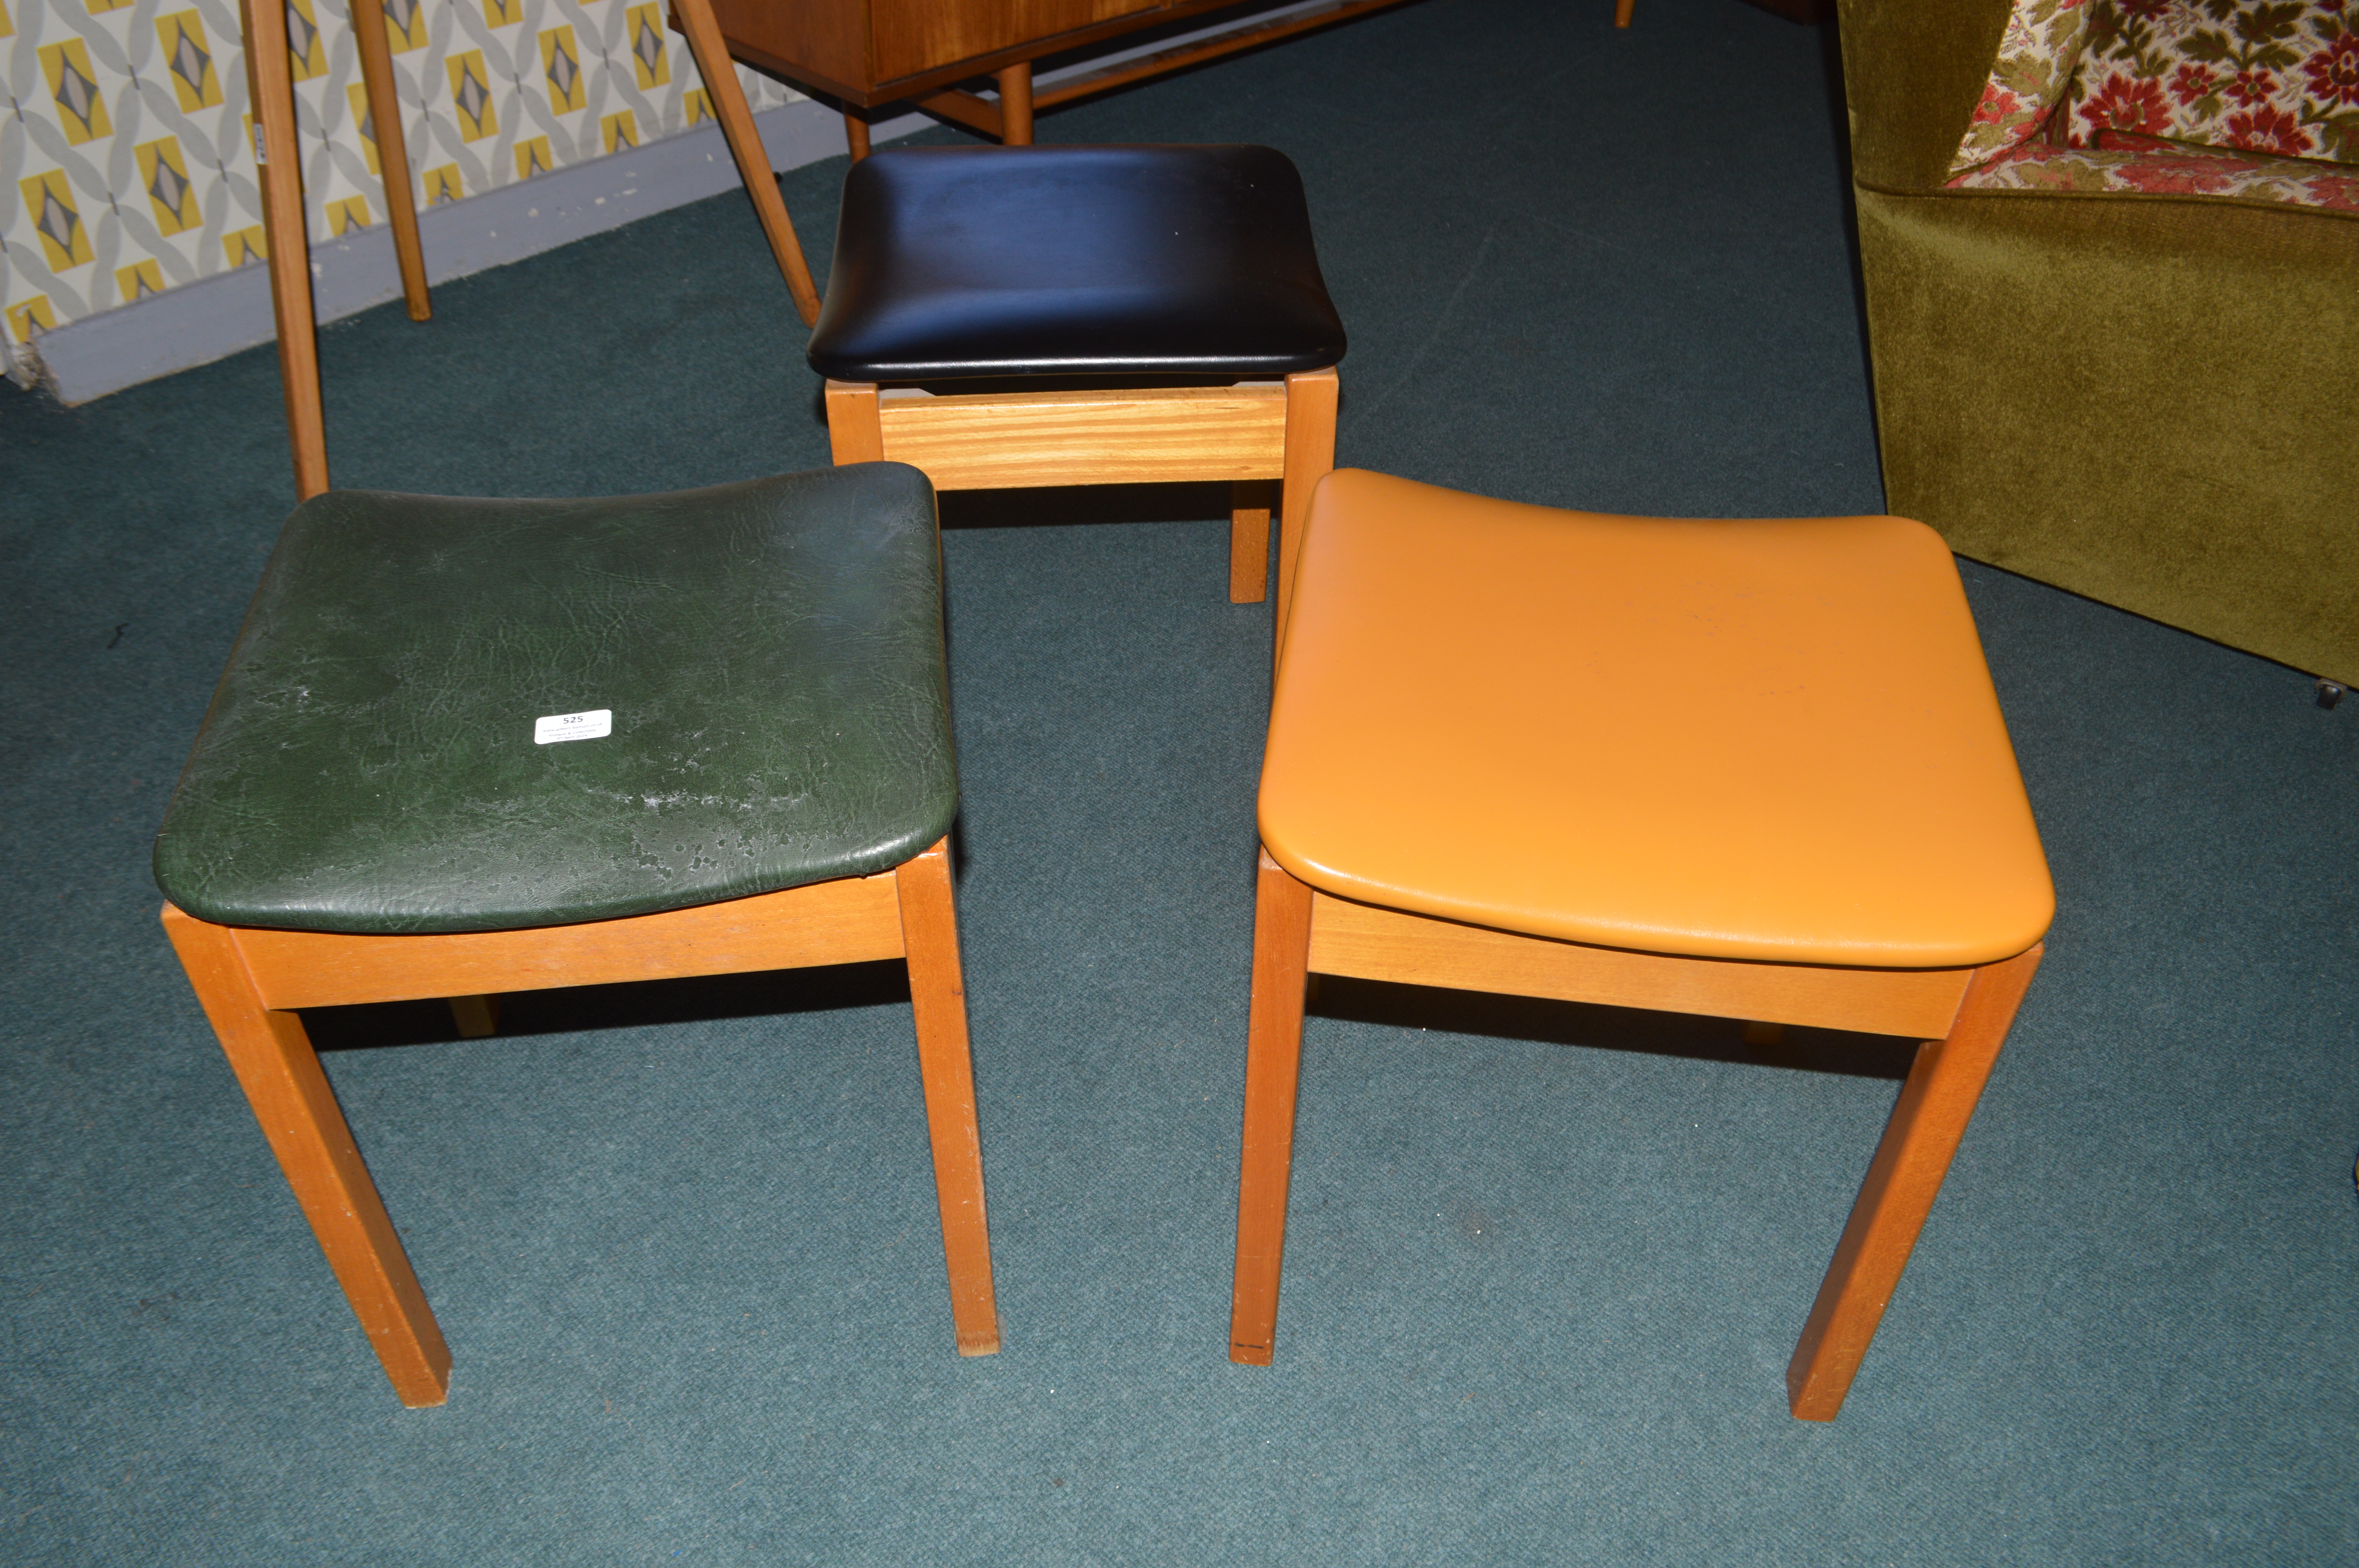
<path fill-rule="evenodd" d="M 2088 0 L 2069 141 L 2104 130 L 2359 163 L 2352 0 Z"/>

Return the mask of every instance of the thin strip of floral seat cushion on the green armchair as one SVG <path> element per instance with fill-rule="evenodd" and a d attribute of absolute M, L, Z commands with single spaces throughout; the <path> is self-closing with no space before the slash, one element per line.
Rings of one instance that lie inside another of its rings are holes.
<path fill-rule="evenodd" d="M 1949 184 L 1974 191 L 2241 196 L 2359 215 L 2359 170 L 2350 165 L 2187 146 L 2121 130 L 2100 130 L 2092 146 L 2024 141 Z"/>

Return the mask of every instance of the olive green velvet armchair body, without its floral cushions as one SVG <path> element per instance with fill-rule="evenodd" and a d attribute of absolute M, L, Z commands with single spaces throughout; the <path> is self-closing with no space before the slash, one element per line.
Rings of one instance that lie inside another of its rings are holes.
<path fill-rule="evenodd" d="M 2359 679 L 2359 212 L 1951 186 L 2008 21 L 2010 0 L 1840 5 L 1890 509 Z"/>

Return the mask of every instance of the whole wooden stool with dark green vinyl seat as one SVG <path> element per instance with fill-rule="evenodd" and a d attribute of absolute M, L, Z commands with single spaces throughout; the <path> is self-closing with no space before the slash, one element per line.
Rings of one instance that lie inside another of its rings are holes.
<path fill-rule="evenodd" d="M 908 960 L 958 1349 L 998 1349 L 951 903 L 934 490 L 330 490 L 156 839 L 165 929 L 406 1405 L 427 1309 L 297 1009 Z M 486 1030 L 477 1030 L 486 1033 Z"/>

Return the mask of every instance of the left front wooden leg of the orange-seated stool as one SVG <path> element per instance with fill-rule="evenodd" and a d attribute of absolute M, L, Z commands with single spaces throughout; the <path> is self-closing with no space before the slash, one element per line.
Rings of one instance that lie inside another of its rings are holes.
<path fill-rule="evenodd" d="M 1236 1285 L 1229 1361 L 1267 1368 L 1279 1339 L 1286 1181 L 1295 1160 L 1302 995 L 1312 957 L 1312 889 L 1262 851 L 1253 889 L 1253 1012 L 1246 1026 L 1246 1134 L 1236 1172 Z"/>

